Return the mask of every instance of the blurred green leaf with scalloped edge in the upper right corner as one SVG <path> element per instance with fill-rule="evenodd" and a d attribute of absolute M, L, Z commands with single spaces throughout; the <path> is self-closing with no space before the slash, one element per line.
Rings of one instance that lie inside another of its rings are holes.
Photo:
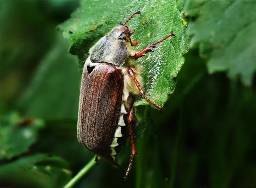
<path fill-rule="evenodd" d="M 255 5 L 234 0 L 187 2 L 186 15 L 196 17 L 188 25 L 190 46 L 199 44 L 209 73 L 227 71 L 229 78 L 240 76 L 244 85 L 251 85 L 256 68 Z"/>

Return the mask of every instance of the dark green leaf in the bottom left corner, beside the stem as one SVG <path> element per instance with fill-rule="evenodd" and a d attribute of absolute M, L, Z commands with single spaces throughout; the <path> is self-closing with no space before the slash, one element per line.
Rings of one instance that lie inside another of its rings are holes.
<path fill-rule="evenodd" d="M 61 187 L 71 179 L 67 168 L 60 157 L 37 154 L 1 165 L 1 181 L 14 187 Z"/>

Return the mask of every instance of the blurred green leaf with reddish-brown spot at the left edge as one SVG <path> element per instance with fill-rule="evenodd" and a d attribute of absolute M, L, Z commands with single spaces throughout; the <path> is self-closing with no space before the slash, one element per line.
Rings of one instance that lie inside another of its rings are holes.
<path fill-rule="evenodd" d="M 44 127 L 40 119 L 22 119 L 17 113 L 1 117 L 1 159 L 11 159 L 29 151 Z"/>

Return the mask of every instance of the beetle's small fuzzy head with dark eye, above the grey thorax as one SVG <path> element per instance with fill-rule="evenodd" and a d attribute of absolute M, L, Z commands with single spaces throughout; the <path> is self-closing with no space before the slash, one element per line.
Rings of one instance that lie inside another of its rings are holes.
<path fill-rule="evenodd" d="M 127 26 L 119 25 L 114 27 L 108 34 L 111 38 L 128 43 L 130 36 L 134 33 L 134 30 L 130 30 Z"/>

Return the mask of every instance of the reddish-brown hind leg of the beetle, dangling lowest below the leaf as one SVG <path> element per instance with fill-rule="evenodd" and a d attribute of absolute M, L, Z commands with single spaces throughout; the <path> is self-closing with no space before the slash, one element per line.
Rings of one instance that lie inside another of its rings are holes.
<path fill-rule="evenodd" d="M 137 157 L 137 152 L 135 149 L 134 145 L 134 140 L 133 140 L 133 134 L 132 134 L 132 123 L 135 121 L 135 116 L 134 116 L 134 108 L 131 109 L 129 116 L 128 116 L 128 124 L 129 124 L 129 132 L 130 132 L 130 138 L 131 138 L 131 158 L 130 162 L 128 165 L 128 169 L 125 174 L 125 179 L 128 177 L 129 171 L 131 170 L 131 165 L 134 157 Z"/>

